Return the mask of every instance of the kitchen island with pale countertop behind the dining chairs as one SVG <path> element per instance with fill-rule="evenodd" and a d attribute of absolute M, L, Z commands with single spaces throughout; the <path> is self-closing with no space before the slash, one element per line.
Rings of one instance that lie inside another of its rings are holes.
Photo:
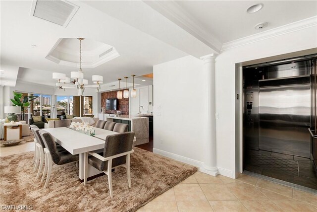
<path fill-rule="evenodd" d="M 128 131 L 135 133 L 136 142 L 134 145 L 140 145 L 149 142 L 149 118 L 131 115 L 115 116 L 114 114 L 99 113 L 100 120 L 117 122 L 129 125 Z"/>

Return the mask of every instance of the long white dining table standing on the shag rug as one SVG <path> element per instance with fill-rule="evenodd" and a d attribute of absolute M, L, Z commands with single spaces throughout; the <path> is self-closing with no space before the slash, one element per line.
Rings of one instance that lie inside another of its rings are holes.
<path fill-rule="evenodd" d="M 113 131 L 94 128 L 95 135 L 89 136 L 67 127 L 47 128 L 44 129 L 49 132 L 56 140 L 55 142 L 69 151 L 71 154 L 79 154 L 79 179 L 84 179 L 84 154 L 89 151 L 96 151 L 105 147 L 105 140 L 108 135 L 118 134 Z M 102 173 L 95 167 L 88 165 L 88 177 L 95 176 Z"/>

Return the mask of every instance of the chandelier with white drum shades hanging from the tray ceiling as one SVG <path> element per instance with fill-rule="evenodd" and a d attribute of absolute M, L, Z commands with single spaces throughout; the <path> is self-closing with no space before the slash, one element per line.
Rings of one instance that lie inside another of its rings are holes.
<path fill-rule="evenodd" d="M 80 68 L 79 71 L 71 71 L 70 77 L 67 77 L 65 73 L 59 73 L 59 72 L 53 72 L 53 79 L 58 80 L 56 82 L 56 87 L 60 89 L 65 88 L 77 88 L 78 89 L 78 95 L 82 96 L 84 95 L 84 89 L 85 88 L 97 88 L 97 91 L 100 89 L 100 84 L 103 83 L 104 77 L 101 75 L 93 75 L 92 85 L 88 84 L 88 79 L 84 79 L 84 72 L 81 69 L 81 42 L 84 40 L 84 38 L 77 38 L 80 42 Z M 71 81 L 70 79 L 73 79 Z"/>

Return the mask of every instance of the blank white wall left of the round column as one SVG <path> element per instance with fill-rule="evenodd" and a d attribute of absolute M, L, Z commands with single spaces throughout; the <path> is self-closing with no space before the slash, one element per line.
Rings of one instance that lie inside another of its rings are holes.
<path fill-rule="evenodd" d="M 200 165 L 204 159 L 203 61 L 193 56 L 154 66 L 154 152 Z"/>

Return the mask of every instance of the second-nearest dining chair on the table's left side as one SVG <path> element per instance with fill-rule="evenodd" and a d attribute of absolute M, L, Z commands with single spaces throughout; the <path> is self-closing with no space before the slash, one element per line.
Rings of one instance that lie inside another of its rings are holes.
<path fill-rule="evenodd" d="M 39 131 L 41 129 L 39 128 L 32 128 L 31 129 L 33 134 L 34 134 L 34 142 L 35 142 L 35 163 L 34 163 L 34 167 L 33 167 L 33 172 L 36 171 L 38 165 L 39 166 L 39 170 L 38 170 L 38 174 L 36 175 L 36 177 L 39 177 L 42 171 L 42 167 L 43 167 L 43 163 L 45 160 L 45 153 L 44 153 L 44 148 L 45 148 L 45 144 L 39 134 Z M 62 151 L 66 151 L 66 149 L 64 149 L 61 145 L 56 145 L 56 149 L 58 152 L 62 152 Z"/>

